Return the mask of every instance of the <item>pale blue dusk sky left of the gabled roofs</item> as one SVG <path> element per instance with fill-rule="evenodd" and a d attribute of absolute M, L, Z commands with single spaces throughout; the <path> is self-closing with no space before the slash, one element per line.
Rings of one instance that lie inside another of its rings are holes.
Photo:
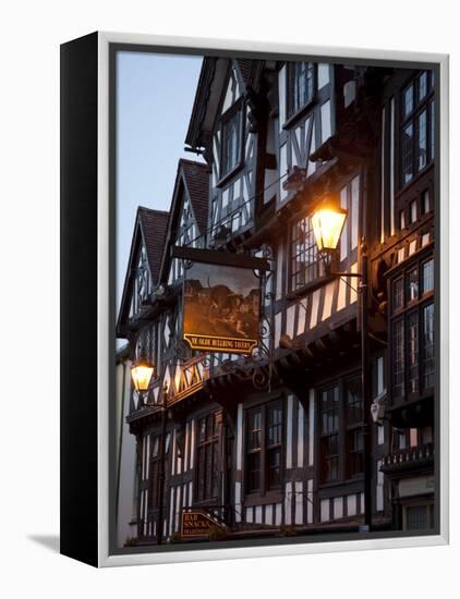
<path fill-rule="evenodd" d="M 203 59 L 117 54 L 117 313 L 138 206 L 168 210 Z"/>

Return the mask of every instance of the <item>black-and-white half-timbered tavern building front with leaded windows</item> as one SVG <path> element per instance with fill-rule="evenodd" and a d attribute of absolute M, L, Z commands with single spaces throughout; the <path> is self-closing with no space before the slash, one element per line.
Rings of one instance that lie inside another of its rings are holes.
<path fill-rule="evenodd" d="M 370 255 L 373 528 L 432 528 L 432 73 L 205 58 L 169 213 L 140 208 L 118 334 L 156 377 L 133 393 L 137 541 L 177 540 L 184 509 L 226 536 L 358 530 L 365 420 L 358 278 L 329 274 L 308 215 L 327 191 L 348 219 L 330 258 Z M 252 356 L 181 341 L 186 264 L 173 248 L 264 257 Z M 135 357 L 135 356 L 133 356 Z M 164 518 L 158 522 L 162 402 Z"/>

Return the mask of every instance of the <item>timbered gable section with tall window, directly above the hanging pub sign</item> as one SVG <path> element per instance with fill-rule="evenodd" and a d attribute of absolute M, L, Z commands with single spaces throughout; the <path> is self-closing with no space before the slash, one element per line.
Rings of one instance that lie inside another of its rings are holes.
<path fill-rule="evenodd" d="M 185 143 L 210 168 L 208 245 L 223 245 L 254 225 L 263 185 L 266 61 L 205 58 Z"/>

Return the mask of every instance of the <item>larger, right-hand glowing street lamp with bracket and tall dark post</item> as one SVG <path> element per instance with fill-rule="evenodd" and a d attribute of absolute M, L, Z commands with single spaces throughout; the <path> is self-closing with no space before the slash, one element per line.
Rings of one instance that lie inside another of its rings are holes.
<path fill-rule="evenodd" d="M 367 274 L 367 246 L 365 236 L 361 239 L 359 248 L 359 272 L 335 272 L 330 269 L 330 254 L 339 244 L 340 235 L 347 220 L 347 210 L 338 206 L 332 198 L 323 199 L 311 215 L 313 232 L 315 235 L 318 254 L 325 259 L 327 273 L 338 279 L 356 277 L 360 279 L 358 285 L 359 301 L 359 323 L 361 331 L 361 392 L 363 398 L 364 413 L 364 527 L 363 531 L 370 531 L 372 527 L 372 400 L 371 400 L 371 376 L 368 359 L 368 274 Z"/>

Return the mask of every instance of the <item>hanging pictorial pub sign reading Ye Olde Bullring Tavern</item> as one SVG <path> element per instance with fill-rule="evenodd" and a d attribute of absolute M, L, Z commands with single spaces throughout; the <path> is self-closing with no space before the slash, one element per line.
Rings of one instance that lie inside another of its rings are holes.
<path fill-rule="evenodd" d="M 183 252 L 193 257 L 184 278 L 183 339 L 192 350 L 251 354 L 259 334 L 256 272 L 266 268 L 266 261 L 225 252 Z"/>

